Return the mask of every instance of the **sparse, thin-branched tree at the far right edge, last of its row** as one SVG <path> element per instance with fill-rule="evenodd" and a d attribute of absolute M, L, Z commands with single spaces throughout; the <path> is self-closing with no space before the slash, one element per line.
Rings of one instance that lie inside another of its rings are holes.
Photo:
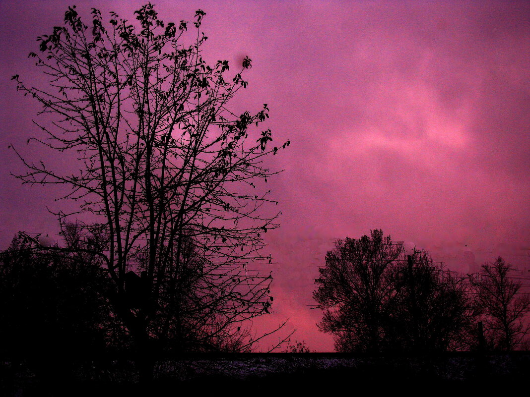
<path fill-rule="evenodd" d="M 498 257 L 482 265 L 481 272 L 472 279 L 485 341 L 491 349 L 528 348 L 530 324 L 525 320 L 530 310 L 530 294 L 523 293 L 521 283 L 510 277 L 512 270 Z"/>

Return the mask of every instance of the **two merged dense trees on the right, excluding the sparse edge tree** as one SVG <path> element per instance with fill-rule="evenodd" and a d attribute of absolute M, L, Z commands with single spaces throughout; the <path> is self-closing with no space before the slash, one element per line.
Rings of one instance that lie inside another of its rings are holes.
<path fill-rule="evenodd" d="M 467 286 L 427 252 L 407 256 L 381 230 L 335 243 L 314 299 L 326 309 L 320 330 L 337 351 L 440 351 L 469 344 L 472 301 Z"/>

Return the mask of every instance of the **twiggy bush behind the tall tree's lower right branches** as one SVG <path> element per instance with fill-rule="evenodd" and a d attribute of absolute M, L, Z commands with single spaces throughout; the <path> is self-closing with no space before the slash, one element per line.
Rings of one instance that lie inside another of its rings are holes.
<path fill-rule="evenodd" d="M 250 333 L 234 319 L 242 311 L 251 312 L 254 302 L 240 299 L 245 290 L 239 284 L 257 285 L 263 276 L 237 268 L 220 271 L 190 237 L 182 238 L 179 267 L 170 262 L 153 317 L 153 332 L 163 350 L 250 351 Z"/>

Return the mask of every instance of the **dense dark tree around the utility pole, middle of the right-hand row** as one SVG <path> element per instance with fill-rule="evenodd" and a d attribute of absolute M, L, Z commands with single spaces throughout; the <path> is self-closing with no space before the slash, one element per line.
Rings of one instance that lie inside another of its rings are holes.
<path fill-rule="evenodd" d="M 403 256 L 390 272 L 394 294 L 388 318 L 390 349 L 463 350 L 473 342 L 469 286 L 426 251 Z"/>

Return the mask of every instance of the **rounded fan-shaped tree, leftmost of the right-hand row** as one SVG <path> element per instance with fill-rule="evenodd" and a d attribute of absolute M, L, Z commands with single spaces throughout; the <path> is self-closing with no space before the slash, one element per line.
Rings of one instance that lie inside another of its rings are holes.
<path fill-rule="evenodd" d="M 319 329 L 331 332 L 337 351 L 381 351 L 394 285 L 388 270 L 402 247 L 381 230 L 370 236 L 339 240 L 328 251 L 313 297 L 327 309 Z"/>

